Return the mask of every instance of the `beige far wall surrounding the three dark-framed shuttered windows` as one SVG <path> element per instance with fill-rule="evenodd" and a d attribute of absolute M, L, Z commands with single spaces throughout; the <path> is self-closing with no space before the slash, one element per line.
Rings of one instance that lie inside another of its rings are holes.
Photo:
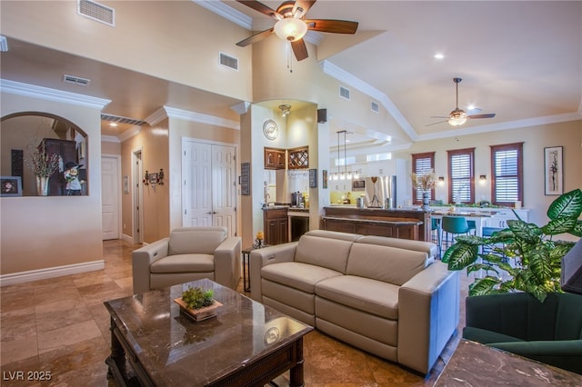
<path fill-rule="evenodd" d="M 459 129 L 462 134 L 462 129 Z M 475 147 L 475 174 L 487 174 L 487 184 L 476 184 L 476 201 L 491 200 L 491 160 L 490 145 L 524 143 L 524 200 L 523 206 L 531 209 L 530 221 L 537 224 L 547 223 L 547 207 L 556 196 L 544 194 L 544 147 L 564 146 L 564 187 L 565 192 L 582 188 L 582 120 L 562 123 L 546 124 L 523 129 L 489 132 L 486 134 L 458 135 L 440 140 L 418 142 L 409 151 L 395 154 L 395 158 L 405 158 L 408 161 L 407 171 L 411 172 L 410 154 L 436 152 L 435 172 L 437 176 L 447 175 L 447 150 Z M 405 182 L 411 194 L 410 179 L 408 176 L 398 176 L 398 182 Z M 447 184 L 437 186 L 437 199 L 445 203 L 447 198 Z M 407 198 L 399 199 L 402 203 Z"/>

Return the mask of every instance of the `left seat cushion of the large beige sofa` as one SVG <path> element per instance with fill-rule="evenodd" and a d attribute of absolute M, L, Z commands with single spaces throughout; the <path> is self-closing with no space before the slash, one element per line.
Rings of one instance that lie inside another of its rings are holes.
<path fill-rule="evenodd" d="M 338 275 L 342 275 L 342 273 L 325 267 L 298 262 L 267 264 L 261 269 L 261 277 L 264 280 L 281 283 L 311 294 L 316 293 L 316 283 Z"/>

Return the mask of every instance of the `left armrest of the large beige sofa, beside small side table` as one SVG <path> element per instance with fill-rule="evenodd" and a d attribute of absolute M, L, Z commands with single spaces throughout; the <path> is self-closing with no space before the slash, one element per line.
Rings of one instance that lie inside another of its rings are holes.
<path fill-rule="evenodd" d="M 256 249 L 249 257 L 249 276 L 251 284 L 251 298 L 259 303 L 263 302 L 261 289 L 261 269 L 271 263 L 293 262 L 295 259 L 297 242 L 276 244 L 274 246 Z"/>

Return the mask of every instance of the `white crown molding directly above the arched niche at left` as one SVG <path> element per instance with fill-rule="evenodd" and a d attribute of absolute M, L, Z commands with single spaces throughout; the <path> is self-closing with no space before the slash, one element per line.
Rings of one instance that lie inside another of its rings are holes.
<path fill-rule="evenodd" d="M 23 84 L 20 82 L 9 81 L 7 79 L 0 79 L 0 89 L 3 93 L 40 98 L 64 104 L 75 104 L 99 110 L 111 103 L 111 100 L 109 99 L 64 92 L 61 90 L 50 89 L 48 87 L 36 86 L 35 84 Z"/>

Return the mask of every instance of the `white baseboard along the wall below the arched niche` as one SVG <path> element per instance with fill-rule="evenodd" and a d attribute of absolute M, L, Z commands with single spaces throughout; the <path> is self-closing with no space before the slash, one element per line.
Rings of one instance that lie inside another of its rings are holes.
<path fill-rule="evenodd" d="M 103 269 L 105 269 L 105 261 L 99 260 L 47 267 L 45 269 L 31 270 L 27 272 L 2 274 L 0 275 L 0 287 L 14 285 L 16 283 L 30 283 L 32 281 L 45 280 L 47 278 L 62 277 L 63 275 L 95 272 Z"/>

